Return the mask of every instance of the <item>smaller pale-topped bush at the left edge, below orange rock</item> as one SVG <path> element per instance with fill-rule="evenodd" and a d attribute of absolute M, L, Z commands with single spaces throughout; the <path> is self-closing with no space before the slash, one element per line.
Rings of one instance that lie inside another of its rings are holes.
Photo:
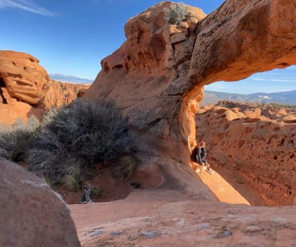
<path fill-rule="evenodd" d="M 12 125 L 0 126 L 0 156 L 14 162 L 24 161 L 30 143 L 37 135 L 39 121 L 31 116 L 25 124 L 17 119 Z"/>

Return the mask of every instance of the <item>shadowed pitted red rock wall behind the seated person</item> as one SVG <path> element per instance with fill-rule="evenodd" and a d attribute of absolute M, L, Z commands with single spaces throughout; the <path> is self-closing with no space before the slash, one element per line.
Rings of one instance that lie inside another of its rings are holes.
<path fill-rule="evenodd" d="M 294 123 L 287 123 L 288 115 L 270 120 L 260 116 L 257 107 L 243 112 L 237 107 L 205 109 L 195 117 L 196 139 L 207 143 L 207 160 L 212 167 L 252 205 L 293 205 L 296 115 Z M 276 115 L 273 110 L 272 116 Z"/>

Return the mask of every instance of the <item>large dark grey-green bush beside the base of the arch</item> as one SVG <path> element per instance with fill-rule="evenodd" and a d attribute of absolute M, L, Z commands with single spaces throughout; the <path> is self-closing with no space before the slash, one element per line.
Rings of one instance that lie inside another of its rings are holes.
<path fill-rule="evenodd" d="M 56 135 L 69 153 L 93 163 L 134 152 L 127 121 L 111 100 L 77 99 L 71 107 L 49 112 L 44 127 Z"/>

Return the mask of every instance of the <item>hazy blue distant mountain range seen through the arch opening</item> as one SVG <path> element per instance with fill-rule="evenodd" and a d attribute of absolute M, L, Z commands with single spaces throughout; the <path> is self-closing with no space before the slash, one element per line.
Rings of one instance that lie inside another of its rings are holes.
<path fill-rule="evenodd" d="M 252 94 L 224 93 L 205 90 L 205 97 L 202 100 L 201 105 L 216 104 L 219 100 L 296 105 L 296 90 L 286 92 Z"/>

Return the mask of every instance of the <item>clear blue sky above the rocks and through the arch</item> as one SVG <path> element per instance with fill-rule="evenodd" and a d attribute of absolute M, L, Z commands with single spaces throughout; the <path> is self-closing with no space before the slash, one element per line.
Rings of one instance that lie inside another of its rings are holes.
<path fill-rule="evenodd" d="M 123 26 L 126 21 L 157 2 L 0 0 L 0 49 L 30 53 L 40 60 L 48 73 L 94 79 L 101 70 L 101 59 L 125 41 Z M 184 2 L 208 14 L 223 0 Z M 276 70 L 256 74 L 246 82 L 217 82 L 207 89 L 238 93 L 293 90 L 296 89 L 295 75 L 295 68 Z"/>

